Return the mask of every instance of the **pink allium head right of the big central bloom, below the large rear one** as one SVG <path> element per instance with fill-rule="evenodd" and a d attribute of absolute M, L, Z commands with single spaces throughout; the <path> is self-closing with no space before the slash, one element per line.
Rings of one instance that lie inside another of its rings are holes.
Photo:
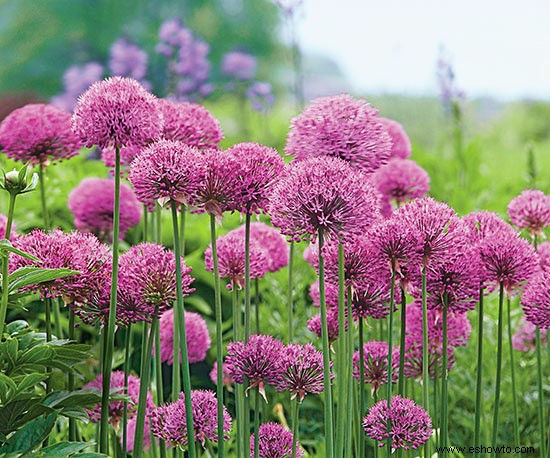
<path fill-rule="evenodd" d="M 393 159 L 370 176 L 382 196 L 397 206 L 424 197 L 430 190 L 428 173 L 410 159 Z"/>

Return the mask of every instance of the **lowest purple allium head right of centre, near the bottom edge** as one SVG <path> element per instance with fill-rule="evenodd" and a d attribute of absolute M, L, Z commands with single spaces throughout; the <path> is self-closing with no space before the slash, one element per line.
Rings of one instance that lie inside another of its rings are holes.
<path fill-rule="evenodd" d="M 397 395 L 392 397 L 389 408 L 386 400 L 372 406 L 363 418 L 363 428 L 367 436 L 378 441 L 379 447 L 384 447 L 390 437 L 392 450 L 416 450 L 430 439 L 432 420 L 412 399 Z"/>

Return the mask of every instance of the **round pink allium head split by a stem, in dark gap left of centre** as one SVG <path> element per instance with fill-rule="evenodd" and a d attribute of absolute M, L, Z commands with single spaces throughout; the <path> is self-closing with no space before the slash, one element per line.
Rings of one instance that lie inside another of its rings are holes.
<path fill-rule="evenodd" d="M 195 312 L 185 312 L 185 335 L 189 363 L 206 359 L 211 340 L 204 318 Z M 181 350 L 180 350 L 180 361 Z M 174 364 L 174 309 L 167 310 L 160 317 L 160 360 L 170 366 Z"/>

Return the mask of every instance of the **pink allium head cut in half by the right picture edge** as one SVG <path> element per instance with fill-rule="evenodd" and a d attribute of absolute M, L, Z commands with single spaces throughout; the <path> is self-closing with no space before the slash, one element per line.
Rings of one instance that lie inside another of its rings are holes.
<path fill-rule="evenodd" d="M 527 321 L 541 329 L 550 328 L 550 272 L 540 271 L 529 279 L 521 305 Z"/>

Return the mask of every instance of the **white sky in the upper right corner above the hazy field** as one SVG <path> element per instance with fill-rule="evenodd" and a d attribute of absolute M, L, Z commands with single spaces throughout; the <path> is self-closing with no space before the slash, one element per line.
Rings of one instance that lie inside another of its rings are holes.
<path fill-rule="evenodd" d="M 444 47 L 468 96 L 550 99 L 550 0 L 304 0 L 305 52 L 356 89 L 436 94 Z"/>

